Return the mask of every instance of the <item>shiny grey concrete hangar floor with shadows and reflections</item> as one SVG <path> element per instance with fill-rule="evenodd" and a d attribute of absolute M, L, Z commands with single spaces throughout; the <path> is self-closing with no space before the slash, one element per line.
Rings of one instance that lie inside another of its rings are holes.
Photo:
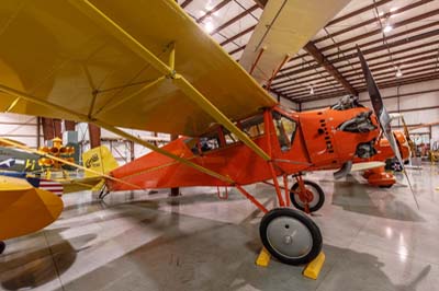
<path fill-rule="evenodd" d="M 274 259 L 255 266 L 262 214 L 232 191 L 185 188 L 180 198 L 90 193 L 64 196 L 54 224 L 8 241 L 0 289 L 36 290 L 439 290 L 438 167 L 409 171 L 420 211 L 403 184 L 372 188 L 359 175 L 334 182 L 312 173 L 326 193 L 314 219 L 326 263 L 318 280 Z M 402 181 L 402 176 L 398 176 Z M 271 207 L 273 190 L 249 186 Z"/>

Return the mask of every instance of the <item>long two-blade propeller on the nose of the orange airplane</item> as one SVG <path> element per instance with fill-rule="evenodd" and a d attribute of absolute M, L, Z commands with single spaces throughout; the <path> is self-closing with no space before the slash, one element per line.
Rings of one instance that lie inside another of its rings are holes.
<path fill-rule="evenodd" d="M 393 132 L 392 132 L 392 127 L 391 127 L 392 117 L 390 116 L 390 114 L 387 113 L 387 109 L 384 106 L 380 90 L 378 89 L 376 82 L 373 79 L 373 75 L 369 69 L 368 62 L 365 61 L 364 56 L 361 53 L 359 47 L 357 47 L 357 51 L 358 51 L 358 56 L 360 58 L 361 68 L 363 70 L 365 85 L 367 85 L 368 92 L 369 92 L 369 97 L 372 102 L 373 110 L 380 123 L 382 133 L 389 140 L 389 143 L 390 143 L 393 152 L 395 153 L 397 161 L 399 162 L 402 168 L 404 170 L 404 162 L 403 162 L 403 159 L 401 158 L 399 148 L 397 147 L 395 137 L 393 136 Z M 410 179 L 408 178 L 406 171 L 404 171 L 404 175 L 407 179 L 408 187 L 410 188 L 413 198 L 415 199 L 416 207 L 419 209 L 418 200 L 416 199 L 415 193 L 413 191 L 412 183 L 410 183 Z"/>

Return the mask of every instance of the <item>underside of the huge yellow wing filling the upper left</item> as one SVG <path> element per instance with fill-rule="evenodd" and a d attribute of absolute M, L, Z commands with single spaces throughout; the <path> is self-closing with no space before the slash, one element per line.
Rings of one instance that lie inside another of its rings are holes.
<path fill-rule="evenodd" d="M 178 73 L 228 118 L 275 104 L 173 0 L 89 2 L 165 63 L 175 46 Z M 113 126 L 187 136 L 214 123 L 126 39 L 85 13 L 83 4 L 0 1 L 1 110 L 78 119 L 32 102 L 40 98 Z"/>

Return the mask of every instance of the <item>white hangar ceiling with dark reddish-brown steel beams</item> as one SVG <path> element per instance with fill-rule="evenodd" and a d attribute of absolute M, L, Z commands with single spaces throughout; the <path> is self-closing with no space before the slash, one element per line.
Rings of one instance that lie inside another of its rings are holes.
<path fill-rule="evenodd" d="M 179 0 L 239 61 L 267 0 Z M 359 46 L 380 88 L 439 78 L 439 1 L 352 0 L 286 62 L 271 91 L 302 103 L 365 91 Z"/>

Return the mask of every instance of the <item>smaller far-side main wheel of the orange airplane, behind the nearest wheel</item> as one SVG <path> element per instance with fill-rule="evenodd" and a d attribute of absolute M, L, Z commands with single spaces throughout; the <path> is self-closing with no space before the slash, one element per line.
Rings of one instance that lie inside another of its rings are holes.
<path fill-rule="evenodd" d="M 315 212 L 320 209 L 325 202 L 325 193 L 323 191 L 322 187 L 318 186 L 316 183 L 304 179 L 303 184 L 305 184 L 306 196 L 309 197 L 308 199 L 308 208 L 309 212 Z M 306 201 L 301 199 L 299 194 L 300 191 L 299 183 L 296 182 L 290 191 L 290 199 L 291 202 L 294 205 L 295 208 L 305 211 Z"/>

